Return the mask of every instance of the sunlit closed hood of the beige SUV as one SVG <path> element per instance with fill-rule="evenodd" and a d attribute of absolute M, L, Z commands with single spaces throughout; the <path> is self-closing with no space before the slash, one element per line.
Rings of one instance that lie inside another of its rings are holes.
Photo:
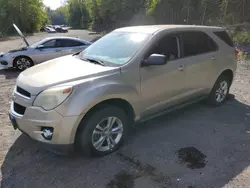
<path fill-rule="evenodd" d="M 96 78 L 120 72 L 119 67 L 106 67 L 79 59 L 77 56 L 64 56 L 47 61 L 23 71 L 17 78 L 17 85 L 31 95 L 44 89 L 87 78 Z"/>

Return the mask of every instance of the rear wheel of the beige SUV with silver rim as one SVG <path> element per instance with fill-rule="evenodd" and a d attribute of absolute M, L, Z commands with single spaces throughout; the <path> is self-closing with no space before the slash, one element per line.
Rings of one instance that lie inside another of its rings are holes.
<path fill-rule="evenodd" d="M 222 105 L 228 97 L 229 89 L 229 78 L 227 76 L 221 75 L 215 82 L 215 85 L 208 97 L 209 104 L 213 106 Z"/>

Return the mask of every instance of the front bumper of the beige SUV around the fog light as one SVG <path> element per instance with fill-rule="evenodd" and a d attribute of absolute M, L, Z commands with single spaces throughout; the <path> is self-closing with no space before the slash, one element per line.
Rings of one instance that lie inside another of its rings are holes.
<path fill-rule="evenodd" d="M 14 110 L 11 102 L 10 117 L 12 124 L 34 140 L 53 145 L 74 144 L 75 129 L 78 126 L 78 116 L 64 117 L 55 110 L 45 111 L 42 108 L 28 106 L 23 115 Z M 13 123 L 13 122 L 16 122 Z M 53 128 L 51 140 L 46 140 L 41 133 L 42 128 Z"/>

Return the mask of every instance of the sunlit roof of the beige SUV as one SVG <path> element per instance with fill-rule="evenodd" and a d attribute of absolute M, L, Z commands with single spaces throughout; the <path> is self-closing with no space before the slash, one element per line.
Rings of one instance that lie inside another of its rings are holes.
<path fill-rule="evenodd" d="M 148 33 L 148 34 L 154 34 L 156 32 L 162 31 L 162 30 L 174 30 L 178 29 L 178 31 L 181 30 L 212 30 L 212 31 L 221 31 L 225 30 L 222 27 L 215 27 L 215 26 L 203 26 L 203 25 L 145 25 L 145 26 L 131 26 L 131 27 L 123 27 L 116 29 L 115 31 L 118 32 L 136 32 L 136 33 Z"/>

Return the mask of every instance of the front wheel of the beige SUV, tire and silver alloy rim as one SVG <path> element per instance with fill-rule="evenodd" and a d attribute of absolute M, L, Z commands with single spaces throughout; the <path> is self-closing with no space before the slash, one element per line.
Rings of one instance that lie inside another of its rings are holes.
<path fill-rule="evenodd" d="M 117 150 L 128 131 L 128 117 L 114 106 L 103 106 L 79 125 L 78 148 L 86 155 L 104 156 Z"/>

